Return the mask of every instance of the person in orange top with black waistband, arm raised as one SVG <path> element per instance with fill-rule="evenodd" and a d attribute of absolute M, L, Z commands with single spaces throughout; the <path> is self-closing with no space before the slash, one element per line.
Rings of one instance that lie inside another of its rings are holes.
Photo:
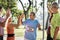
<path fill-rule="evenodd" d="M 12 14 L 10 8 L 8 8 L 7 11 L 9 11 L 8 14 L 10 15 L 5 24 L 5 27 L 7 28 L 7 40 L 15 40 L 14 27 L 19 26 L 19 17 L 18 17 L 18 23 L 12 24 Z"/>

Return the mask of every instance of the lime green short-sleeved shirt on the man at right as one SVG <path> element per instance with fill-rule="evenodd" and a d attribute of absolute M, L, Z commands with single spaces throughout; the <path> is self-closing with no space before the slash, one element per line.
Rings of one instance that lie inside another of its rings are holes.
<path fill-rule="evenodd" d="M 54 31 L 56 27 L 60 27 L 60 13 L 53 14 L 52 20 L 51 20 L 51 36 L 54 36 Z"/>

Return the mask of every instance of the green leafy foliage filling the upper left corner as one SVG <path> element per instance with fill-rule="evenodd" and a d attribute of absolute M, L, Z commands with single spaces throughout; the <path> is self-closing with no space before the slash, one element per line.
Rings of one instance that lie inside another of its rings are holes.
<path fill-rule="evenodd" d="M 21 14 L 21 10 L 18 10 L 17 8 L 17 1 L 18 0 L 0 0 L 0 6 L 3 6 L 3 8 L 6 9 L 10 7 L 13 16 L 17 16 Z"/>

